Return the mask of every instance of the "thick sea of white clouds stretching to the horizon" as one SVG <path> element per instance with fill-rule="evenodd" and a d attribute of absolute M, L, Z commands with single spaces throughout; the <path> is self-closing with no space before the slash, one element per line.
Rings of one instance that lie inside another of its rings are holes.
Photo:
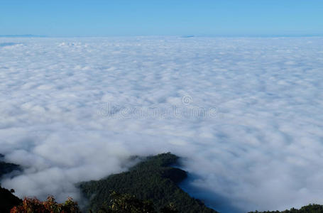
<path fill-rule="evenodd" d="M 0 38 L 0 153 L 16 195 L 171 151 L 223 212 L 323 204 L 323 38 Z"/>

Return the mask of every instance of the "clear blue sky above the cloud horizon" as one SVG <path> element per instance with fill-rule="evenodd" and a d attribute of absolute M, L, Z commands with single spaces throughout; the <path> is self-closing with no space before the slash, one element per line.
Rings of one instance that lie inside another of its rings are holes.
<path fill-rule="evenodd" d="M 0 0 L 0 35 L 323 35 L 323 0 Z"/>

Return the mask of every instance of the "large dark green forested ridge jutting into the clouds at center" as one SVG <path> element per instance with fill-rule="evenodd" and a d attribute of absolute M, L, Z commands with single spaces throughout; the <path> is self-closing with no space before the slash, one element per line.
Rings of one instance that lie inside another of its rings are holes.
<path fill-rule="evenodd" d="M 128 172 L 110 175 L 99 181 L 82 182 L 80 189 L 89 199 L 89 209 L 97 211 L 109 205 L 111 191 L 135 195 L 141 200 L 151 200 L 155 209 L 173 203 L 178 212 L 216 212 L 184 192 L 177 183 L 187 178 L 187 173 L 170 165 L 178 157 L 164 153 L 146 158 Z"/>

